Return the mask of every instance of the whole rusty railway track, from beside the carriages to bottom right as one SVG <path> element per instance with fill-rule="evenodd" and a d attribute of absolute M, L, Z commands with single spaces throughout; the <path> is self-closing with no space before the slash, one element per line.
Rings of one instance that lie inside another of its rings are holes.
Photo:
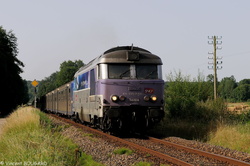
<path fill-rule="evenodd" d="M 100 130 L 75 123 L 69 119 L 65 119 L 54 114 L 51 116 L 58 118 L 66 123 L 70 123 L 78 128 L 82 128 L 91 133 L 95 133 L 101 138 L 112 140 L 120 144 L 133 148 L 138 153 L 147 154 L 152 161 L 161 160 L 160 163 L 173 165 L 242 165 L 250 166 L 250 163 L 236 160 L 233 158 L 216 155 L 213 153 L 193 149 L 183 145 L 178 145 L 168 141 L 156 139 L 153 137 L 145 138 L 119 138 L 113 135 L 104 133 Z"/>

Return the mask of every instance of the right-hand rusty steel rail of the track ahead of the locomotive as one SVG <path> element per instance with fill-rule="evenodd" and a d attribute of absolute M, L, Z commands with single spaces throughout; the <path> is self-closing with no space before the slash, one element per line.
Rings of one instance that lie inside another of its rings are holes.
<path fill-rule="evenodd" d="M 178 148 L 178 149 L 186 150 L 188 152 L 196 153 L 196 154 L 202 155 L 204 157 L 209 157 L 209 158 L 213 158 L 213 159 L 216 159 L 216 160 L 219 160 L 219 161 L 227 162 L 229 164 L 241 165 L 241 166 L 250 166 L 250 163 L 245 162 L 245 161 L 233 159 L 233 158 L 222 156 L 222 155 L 219 155 L 219 154 L 209 153 L 209 152 L 206 152 L 206 151 L 190 148 L 190 147 L 187 147 L 187 146 L 179 145 L 179 144 L 176 144 L 176 143 L 172 143 L 172 142 L 169 142 L 169 141 L 164 141 L 164 140 L 153 138 L 153 137 L 148 137 L 148 138 L 149 138 L 149 140 L 157 142 L 157 143 L 161 143 L 161 144 L 168 145 L 168 146 L 173 146 L 173 147 Z"/>

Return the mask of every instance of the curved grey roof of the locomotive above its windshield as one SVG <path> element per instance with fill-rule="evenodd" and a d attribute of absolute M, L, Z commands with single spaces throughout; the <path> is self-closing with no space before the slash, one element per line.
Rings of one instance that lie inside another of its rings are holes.
<path fill-rule="evenodd" d="M 77 73 L 92 68 L 101 63 L 131 63 L 131 64 L 157 64 L 162 65 L 161 58 L 148 50 L 133 46 L 118 46 L 105 51 L 101 56 L 93 59 L 80 68 Z"/>

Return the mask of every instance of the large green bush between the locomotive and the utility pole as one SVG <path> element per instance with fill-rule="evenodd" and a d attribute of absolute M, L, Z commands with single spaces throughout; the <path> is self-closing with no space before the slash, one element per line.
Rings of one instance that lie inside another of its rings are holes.
<path fill-rule="evenodd" d="M 190 120 L 211 120 L 224 109 L 223 101 L 209 100 L 213 92 L 213 84 L 204 81 L 200 74 L 191 80 L 181 72 L 167 77 L 165 88 L 165 105 L 167 115 L 171 118 Z"/>

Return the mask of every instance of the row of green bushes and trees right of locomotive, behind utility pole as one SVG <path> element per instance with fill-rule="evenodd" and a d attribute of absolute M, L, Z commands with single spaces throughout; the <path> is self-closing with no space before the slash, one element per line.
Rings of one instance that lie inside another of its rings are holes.
<path fill-rule="evenodd" d="M 250 79 L 237 83 L 234 76 L 223 78 L 218 83 L 219 97 L 214 100 L 212 78 L 201 73 L 197 78 L 184 76 L 180 71 L 170 73 L 165 87 L 168 117 L 209 122 L 227 116 L 227 102 L 250 101 Z"/>

